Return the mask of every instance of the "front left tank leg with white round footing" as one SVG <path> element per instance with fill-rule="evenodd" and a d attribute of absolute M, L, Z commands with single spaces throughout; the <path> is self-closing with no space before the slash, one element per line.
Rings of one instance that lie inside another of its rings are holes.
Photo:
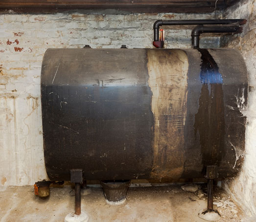
<path fill-rule="evenodd" d="M 75 212 L 65 217 L 64 222 L 88 222 L 89 217 L 81 211 L 81 184 L 83 182 L 82 169 L 70 170 L 70 182 L 75 183 Z"/>

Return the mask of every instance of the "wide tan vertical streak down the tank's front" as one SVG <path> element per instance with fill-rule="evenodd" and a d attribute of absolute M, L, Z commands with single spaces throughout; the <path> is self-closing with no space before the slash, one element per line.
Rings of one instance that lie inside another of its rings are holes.
<path fill-rule="evenodd" d="M 147 57 L 155 121 L 151 178 L 180 178 L 185 161 L 188 59 L 179 49 L 148 50 Z"/>

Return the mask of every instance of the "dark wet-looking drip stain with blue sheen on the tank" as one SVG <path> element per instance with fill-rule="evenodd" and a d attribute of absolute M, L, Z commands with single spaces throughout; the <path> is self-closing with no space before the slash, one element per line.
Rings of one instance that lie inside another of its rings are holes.
<path fill-rule="evenodd" d="M 195 114 L 194 133 L 199 133 L 202 164 L 219 165 L 224 156 L 225 109 L 223 79 L 219 68 L 207 49 L 198 48 L 201 53 L 202 83 L 199 109 Z"/>

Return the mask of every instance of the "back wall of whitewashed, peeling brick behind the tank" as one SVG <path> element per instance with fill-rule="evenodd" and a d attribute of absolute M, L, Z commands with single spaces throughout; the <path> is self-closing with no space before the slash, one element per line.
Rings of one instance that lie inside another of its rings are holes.
<path fill-rule="evenodd" d="M 0 186 L 47 179 L 40 101 L 40 72 L 47 48 L 152 47 L 157 19 L 213 19 L 214 14 L 79 12 L 0 15 Z M 166 45 L 191 46 L 191 29 L 166 30 Z M 219 38 L 204 38 L 218 47 Z"/>

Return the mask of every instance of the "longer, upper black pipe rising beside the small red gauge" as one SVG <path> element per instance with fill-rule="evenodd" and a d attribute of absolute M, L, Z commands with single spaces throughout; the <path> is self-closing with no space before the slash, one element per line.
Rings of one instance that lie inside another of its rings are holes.
<path fill-rule="evenodd" d="M 191 25 L 191 24 L 245 24 L 245 19 L 200 19 L 200 20 L 157 20 L 154 25 L 154 41 L 159 41 L 159 27 L 161 25 Z"/>

